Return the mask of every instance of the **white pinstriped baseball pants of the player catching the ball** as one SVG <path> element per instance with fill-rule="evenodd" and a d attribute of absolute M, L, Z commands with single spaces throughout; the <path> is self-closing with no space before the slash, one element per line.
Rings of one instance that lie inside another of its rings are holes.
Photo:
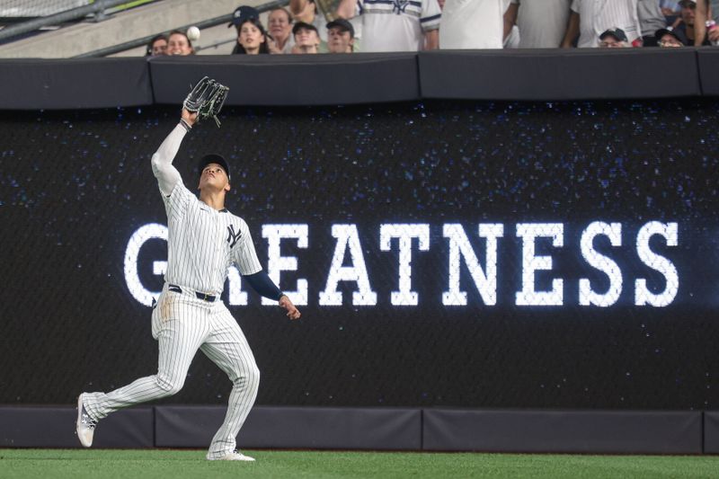
<path fill-rule="evenodd" d="M 200 349 L 233 383 L 225 421 L 212 439 L 208 458 L 234 451 L 235 437 L 260 384 L 260 371 L 235 318 L 221 301 L 208 303 L 189 293 L 168 291 L 165 285 L 153 310 L 152 334 L 159 343 L 157 374 L 111 393 L 84 395 L 85 409 L 100 420 L 119 409 L 178 393 Z"/>

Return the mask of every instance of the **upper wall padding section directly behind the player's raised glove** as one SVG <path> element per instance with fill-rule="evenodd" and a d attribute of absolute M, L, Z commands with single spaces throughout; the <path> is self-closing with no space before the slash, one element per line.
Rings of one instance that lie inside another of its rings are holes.
<path fill-rule="evenodd" d="M 230 88 L 228 105 L 332 105 L 420 98 L 417 55 L 164 57 L 148 63 L 155 102 L 178 104 L 202 76 Z"/>

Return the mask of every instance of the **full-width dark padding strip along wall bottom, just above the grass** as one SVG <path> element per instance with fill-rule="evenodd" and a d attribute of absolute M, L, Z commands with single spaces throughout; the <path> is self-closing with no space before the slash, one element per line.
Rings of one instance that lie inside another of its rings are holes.
<path fill-rule="evenodd" d="M 161 405 L 111 414 L 94 448 L 207 448 L 220 406 Z M 75 408 L 0 407 L 0 447 L 79 448 Z M 253 408 L 239 448 L 716 454 L 719 412 Z"/>

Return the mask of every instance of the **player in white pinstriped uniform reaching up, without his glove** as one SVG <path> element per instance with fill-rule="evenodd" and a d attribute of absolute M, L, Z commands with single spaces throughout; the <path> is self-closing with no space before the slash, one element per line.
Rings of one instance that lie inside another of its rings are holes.
<path fill-rule="evenodd" d="M 141 377 L 111 393 L 83 393 L 77 398 L 77 437 L 93 444 L 97 421 L 134 404 L 174 395 L 200 349 L 233 383 L 225 421 L 209 446 L 209 460 L 253 461 L 235 451 L 235 437 L 252 409 L 260 371 L 244 333 L 219 300 L 227 268 L 235 263 L 259 294 L 279 301 L 290 319 L 299 311 L 271 281 L 257 259 L 250 230 L 225 208 L 230 170 L 220 155 L 200 161 L 200 199 L 182 183 L 173 166 L 182 138 L 197 113 L 182 110 L 182 119 L 152 156 L 152 169 L 167 212 L 167 271 L 153 305 L 152 334 L 159 344 L 155 376 Z"/>

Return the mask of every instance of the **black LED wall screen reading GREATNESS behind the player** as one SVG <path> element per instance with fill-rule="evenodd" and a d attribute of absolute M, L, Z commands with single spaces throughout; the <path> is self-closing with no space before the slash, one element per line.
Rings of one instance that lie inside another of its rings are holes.
<path fill-rule="evenodd" d="M 716 407 L 716 107 L 227 108 L 220 129 L 200 124 L 183 182 L 226 156 L 226 206 L 302 312 L 290 322 L 230 267 L 258 404 Z M 154 374 L 168 230 L 149 160 L 176 109 L 0 121 L 0 401 Z M 229 389 L 198 353 L 164 401 Z"/>

